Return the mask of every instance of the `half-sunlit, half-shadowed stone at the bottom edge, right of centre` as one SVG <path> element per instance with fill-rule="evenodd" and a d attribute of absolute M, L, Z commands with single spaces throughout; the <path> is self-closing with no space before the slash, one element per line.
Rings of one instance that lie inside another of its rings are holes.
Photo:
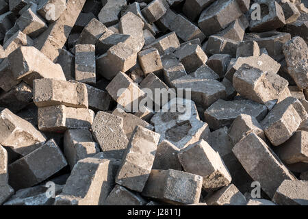
<path fill-rule="evenodd" d="M 204 201 L 207 205 L 246 205 L 247 203 L 245 196 L 233 184 L 214 192 Z"/>

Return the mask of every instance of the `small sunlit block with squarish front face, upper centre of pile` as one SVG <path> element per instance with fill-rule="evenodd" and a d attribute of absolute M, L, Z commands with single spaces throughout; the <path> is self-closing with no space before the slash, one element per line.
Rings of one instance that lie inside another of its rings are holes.
<path fill-rule="evenodd" d="M 162 75 L 162 60 L 160 59 L 160 55 L 157 49 L 150 48 L 140 51 L 138 53 L 138 61 L 142 67 L 144 76 L 148 75 L 149 73 Z"/>

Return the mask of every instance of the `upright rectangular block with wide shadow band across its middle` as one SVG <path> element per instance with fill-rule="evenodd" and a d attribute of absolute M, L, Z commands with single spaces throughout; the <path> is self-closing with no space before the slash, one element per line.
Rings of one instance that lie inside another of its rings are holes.
<path fill-rule="evenodd" d="M 75 79 L 83 83 L 96 83 L 94 44 L 75 45 Z"/>

